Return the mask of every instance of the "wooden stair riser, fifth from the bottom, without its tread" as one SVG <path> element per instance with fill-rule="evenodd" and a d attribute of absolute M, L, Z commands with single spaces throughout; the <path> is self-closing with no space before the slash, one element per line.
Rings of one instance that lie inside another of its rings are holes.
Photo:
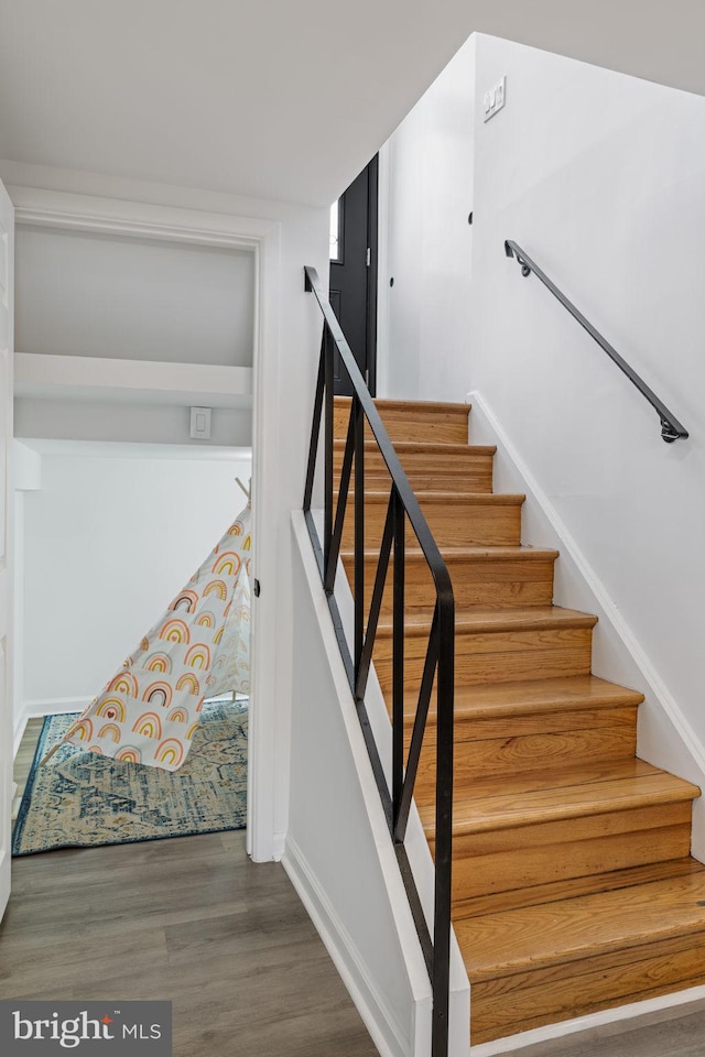
<path fill-rule="evenodd" d="M 348 581 L 352 584 L 354 565 L 344 558 Z M 510 609 L 525 606 L 550 606 L 553 600 L 553 559 L 511 558 L 481 562 L 454 562 L 446 556 L 457 609 L 477 606 L 482 609 Z M 392 608 L 392 568 L 387 574 L 382 598 L 382 613 Z M 365 563 L 365 597 L 369 606 L 377 574 L 377 562 Z M 408 560 L 405 569 L 405 601 L 408 609 L 433 612 L 435 588 L 429 567 L 417 560 Z"/>

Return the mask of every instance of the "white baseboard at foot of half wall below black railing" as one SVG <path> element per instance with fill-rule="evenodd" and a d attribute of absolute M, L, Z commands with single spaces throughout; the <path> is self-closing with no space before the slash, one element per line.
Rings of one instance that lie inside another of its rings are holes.
<path fill-rule="evenodd" d="M 376 989 L 345 925 L 330 905 L 303 852 L 286 838 L 282 865 L 306 907 L 381 1057 L 406 1057 L 403 1035 L 383 995 Z"/>

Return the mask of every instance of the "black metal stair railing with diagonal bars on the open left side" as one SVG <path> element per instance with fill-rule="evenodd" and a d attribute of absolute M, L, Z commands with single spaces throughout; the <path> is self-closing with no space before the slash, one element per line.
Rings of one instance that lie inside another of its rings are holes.
<path fill-rule="evenodd" d="M 397 453 L 382 424 L 379 412 L 365 384 L 338 320 L 321 286 L 314 268 L 304 268 L 305 288 L 315 294 L 324 317 L 318 380 L 314 402 L 308 468 L 303 510 L 308 534 L 318 562 L 321 578 L 328 599 L 338 645 L 348 674 L 350 689 L 360 719 L 362 734 L 372 764 L 372 772 L 387 816 L 399 868 L 404 881 L 416 931 L 423 950 L 433 991 L 432 1057 L 446 1057 L 448 1048 L 448 992 L 451 980 L 451 854 L 453 836 L 453 694 L 455 664 L 455 603 L 446 565 L 433 538 L 426 519 L 406 479 Z M 338 500 L 334 520 L 333 483 L 333 377 L 337 351 L 352 385 L 343 467 L 338 482 Z M 324 416 L 325 405 L 325 416 Z M 314 477 L 324 417 L 324 542 L 318 537 L 311 512 Z M 372 596 L 365 623 L 365 422 L 391 477 L 387 519 L 382 532 L 379 562 Z M 343 524 L 355 462 L 355 621 L 354 651 L 350 656 L 343 629 L 334 587 Z M 436 590 L 436 601 L 429 633 L 429 645 L 421 678 L 411 743 L 404 761 L 404 553 L 405 527 L 411 525 L 425 557 Z M 392 554 L 392 788 L 387 783 L 379 750 L 365 706 L 365 691 L 372 661 L 382 595 Z M 436 682 L 436 802 L 435 802 L 435 891 L 433 937 L 431 936 L 404 847 L 404 837 L 413 787 L 421 756 L 431 694 Z"/>

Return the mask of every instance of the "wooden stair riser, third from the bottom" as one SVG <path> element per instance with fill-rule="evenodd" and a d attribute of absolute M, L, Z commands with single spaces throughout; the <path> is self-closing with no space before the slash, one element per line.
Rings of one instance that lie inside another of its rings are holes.
<path fill-rule="evenodd" d="M 524 720 L 522 724 L 521 720 Z M 528 720 L 531 720 L 529 722 Z M 521 733 L 521 727 L 529 731 Z M 541 729 L 543 727 L 543 729 Z M 498 731 L 503 728 L 503 733 Z M 508 730 L 511 728 L 511 733 Z M 637 709 L 575 711 L 573 715 L 516 717 L 513 720 L 468 720 L 455 724 L 455 784 L 470 789 L 478 778 L 500 777 L 550 767 L 581 766 L 633 756 Z M 415 796 L 433 797 L 435 729 L 427 734 L 419 765 Z"/>

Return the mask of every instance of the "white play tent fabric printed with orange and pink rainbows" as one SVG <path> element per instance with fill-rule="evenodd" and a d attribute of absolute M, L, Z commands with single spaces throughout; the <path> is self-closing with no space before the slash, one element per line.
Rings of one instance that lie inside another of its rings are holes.
<path fill-rule="evenodd" d="M 177 771 L 204 700 L 249 693 L 250 521 L 248 504 L 64 741 Z"/>

